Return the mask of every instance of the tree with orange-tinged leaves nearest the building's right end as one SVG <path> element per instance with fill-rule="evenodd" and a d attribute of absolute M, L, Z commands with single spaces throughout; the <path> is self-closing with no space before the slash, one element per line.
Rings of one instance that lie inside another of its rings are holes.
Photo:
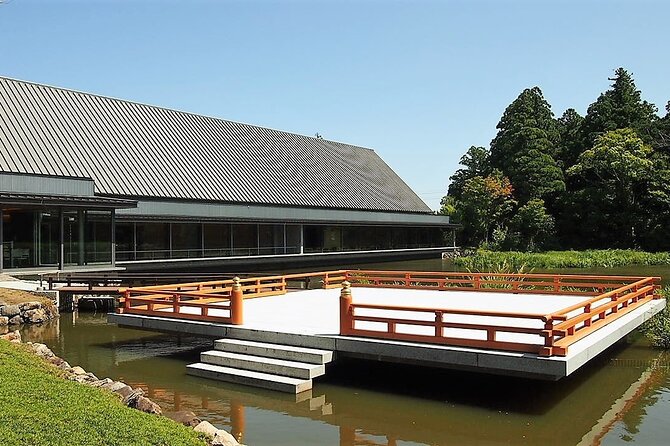
<path fill-rule="evenodd" d="M 499 171 L 466 180 L 461 199 L 454 205 L 456 220 L 463 225 L 463 244 L 488 241 L 495 223 L 506 217 L 514 205 L 512 185 Z"/>

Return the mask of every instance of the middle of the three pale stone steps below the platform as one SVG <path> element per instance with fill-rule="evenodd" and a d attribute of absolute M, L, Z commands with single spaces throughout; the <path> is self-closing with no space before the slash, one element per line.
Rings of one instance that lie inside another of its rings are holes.
<path fill-rule="evenodd" d="M 326 366 L 323 364 L 308 364 L 220 350 L 201 353 L 200 362 L 300 379 L 312 379 L 326 373 Z"/>

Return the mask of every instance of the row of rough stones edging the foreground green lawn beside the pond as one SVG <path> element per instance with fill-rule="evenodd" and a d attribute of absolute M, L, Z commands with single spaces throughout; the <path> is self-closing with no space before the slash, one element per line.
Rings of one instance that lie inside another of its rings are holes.
<path fill-rule="evenodd" d="M 0 335 L 0 339 L 5 339 L 16 344 L 22 343 L 21 333 L 19 333 L 18 330 Z M 155 415 L 163 415 L 161 407 L 144 396 L 144 391 L 142 389 L 133 389 L 128 384 L 121 381 L 114 381 L 111 378 L 98 379 L 93 373 L 86 372 L 86 370 L 79 366 L 72 367 L 67 361 L 56 356 L 45 344 L 26 342 L 24 345 L 27 345 L 35 355 L 42 358 L 44 361 L 63 370 L 63 372 L 65 372 L 65 379 L 116 393 L 123 400 L 123 404 L 133 409 Z M 242 446 L 237 442 L 235 437 L 227 431 L 217 429 L 208 421 L 201 421 L 193 412 L 180 411 L 165 414 L 165 416 L 178 423 L 193 428 L 196 432 L 204 433 L 210 437 L 208 444 L 212 446 Z"/>

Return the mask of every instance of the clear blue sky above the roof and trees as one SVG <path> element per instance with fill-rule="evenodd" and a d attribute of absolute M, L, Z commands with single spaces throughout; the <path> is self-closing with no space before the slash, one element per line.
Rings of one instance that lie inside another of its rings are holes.
<path fill-rule="evenodd" d="M 664 114 L 666 0 L 0 0 L 0 76 L 374 149 L 432 208 L 505 107 Z"/>

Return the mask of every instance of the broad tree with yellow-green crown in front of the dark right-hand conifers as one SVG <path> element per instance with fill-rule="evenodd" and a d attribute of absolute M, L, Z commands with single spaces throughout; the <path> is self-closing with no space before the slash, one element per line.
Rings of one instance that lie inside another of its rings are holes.
<path fill-rule="evenodd" d="M 567 171 L 574 185 L 569 206 L 581 236 L 597 247 L 635 246 L 640 197 L 652 172 L 652 149 L 633 129 L 597 137 Z"/>

